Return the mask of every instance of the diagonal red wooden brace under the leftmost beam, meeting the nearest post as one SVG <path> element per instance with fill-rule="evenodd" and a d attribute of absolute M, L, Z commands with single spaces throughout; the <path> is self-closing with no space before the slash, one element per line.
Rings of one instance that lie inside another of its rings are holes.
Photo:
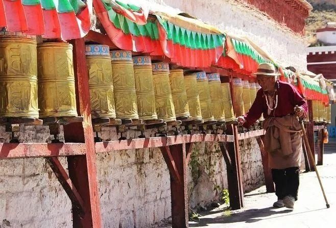
<path fill-rule="evenodd" d="M 76 187 L 71 182 L 68 174 L 64 170 L 62 164 L 58 160 L 57 157 L 51 157 L 45 159 L 47 163 L 50 165 L 52 170 L 54 171 L 58 181 L 61 183 L 62 187 L 64 188 L 66 194 L 69 196 L 72 204 L 73 210 L 76 211 L 81 216 L 84 216 L 84 201 L 80 194 L 78 193 Z"/>

